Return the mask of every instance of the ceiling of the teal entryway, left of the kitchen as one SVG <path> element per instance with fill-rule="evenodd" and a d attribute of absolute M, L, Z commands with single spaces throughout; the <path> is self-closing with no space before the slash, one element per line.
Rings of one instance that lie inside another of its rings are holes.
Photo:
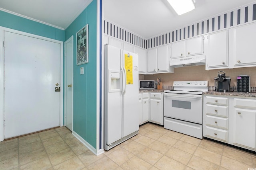
<path fill-rule="evenodd" d="M 0 10 L 66 29 L 92 0 L 0 0 Z"/>

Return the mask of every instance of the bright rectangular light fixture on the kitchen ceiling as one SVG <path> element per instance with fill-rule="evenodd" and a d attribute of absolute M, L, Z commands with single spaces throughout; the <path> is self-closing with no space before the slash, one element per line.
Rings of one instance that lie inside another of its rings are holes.
<path fill-rule="evenodd" d="M 178 15 L 195 9 L 192 0 L 167 0 Z"/>

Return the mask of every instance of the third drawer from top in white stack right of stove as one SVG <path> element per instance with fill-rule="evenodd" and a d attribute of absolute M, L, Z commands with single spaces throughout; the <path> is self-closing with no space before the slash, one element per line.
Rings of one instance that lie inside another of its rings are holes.
<path fill-rule="evenodd" d="M 205 123 L 206 126 L 212 126 L 228 130 L 228 118 L 206 115 Z"/>

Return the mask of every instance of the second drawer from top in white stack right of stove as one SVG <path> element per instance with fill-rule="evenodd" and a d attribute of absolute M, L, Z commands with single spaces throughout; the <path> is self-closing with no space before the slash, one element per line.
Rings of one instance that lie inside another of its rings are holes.
<path fill-rule="evenodd" d="M 228 106 L 206 104 L 206 114 L 220 117 L 228 117 Z"/>

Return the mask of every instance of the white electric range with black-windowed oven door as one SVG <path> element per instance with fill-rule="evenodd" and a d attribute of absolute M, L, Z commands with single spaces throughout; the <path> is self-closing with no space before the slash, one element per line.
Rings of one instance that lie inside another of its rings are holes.
<path fill-rule="evenodd" d="M 208 81 L 174 81 L 164 91 L 164 128 L 202 139 L 203 92 Z"/>

